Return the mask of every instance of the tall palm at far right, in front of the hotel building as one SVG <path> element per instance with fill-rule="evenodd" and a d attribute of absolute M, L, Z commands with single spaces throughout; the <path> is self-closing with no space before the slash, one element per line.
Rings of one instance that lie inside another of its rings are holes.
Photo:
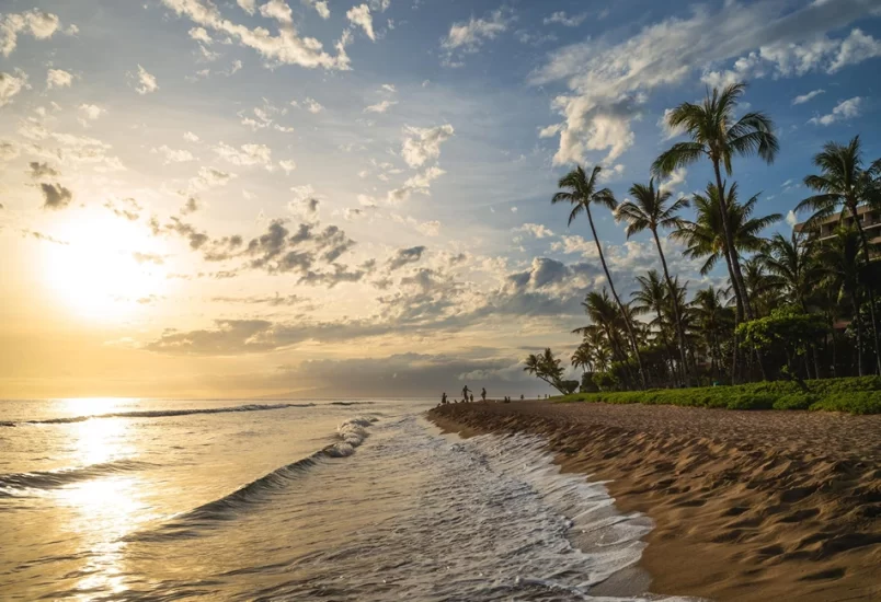
<path fill-rule="evenodd" d="M 878 200 L 878 175 L 881 172 L 881 160 L 876 161 L 868 170 L 862 169 L 862 152 L 859 136 L 849 143 L 826 142 L 823 151 L 814 155 L 814 165 L 820 167 L 819 175 L 809 175 L 804 185 L 819 194 L 805 198 L 797 207 L 797 211 L 811 209 L 809 227 L 816 225 L 825 218 L 846 209 L 857 228 L 862 245 L 863 261 L 871 258 L 869 240 L 860 223 L 859 206 Z M 872 321 L 872 345 L 874 346 L 876 368 L 881 374 L 881 346 L 878 340 L 878 321 L 874 311 L 874 292 L 871 283 L 866 287 L 869 293 L 869 315 Z"/>

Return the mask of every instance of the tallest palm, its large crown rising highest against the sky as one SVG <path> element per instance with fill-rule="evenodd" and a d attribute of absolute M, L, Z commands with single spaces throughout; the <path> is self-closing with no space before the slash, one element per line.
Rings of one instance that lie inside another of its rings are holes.
<path fill-rule="evenodd" d="M 746 84 L 734 83 L 721 91 L 713 89 L 712 95 L 707 94 L 702 104 L 683 103 L 674 108 L 667 116 L 667 124 L 673 129 L 684 129 L 691 139 L 688 142 L 677 142 L 663 152 L 652 165 L 652 172 L 666 176 L 674 170 L 696 163 L 708 158 L 712 163 L 716 175 L 716 187 L 721 190 L 722 231 L 728 240 L 728 252 L 731 254 L 733 273 L 732 285 L 734 292 L 741 298 L 741 304 L 746 310 L 750 320 L 753 310 L 745 302 L 746 287 L 743 282 L 741 266 L 737 256 L 733 253 L 734 230 L 729 221 L 728 202 L 722 182 L 722 166 L 731 175 L 731 160 L 735 155 L 758 155 L 767 163 L 773 163 L 779 142 L 774 135 L 774 123 L 760 112 L 751 112 L 740 119 L 734 117 L 737 101 L 743 95 Z"/>

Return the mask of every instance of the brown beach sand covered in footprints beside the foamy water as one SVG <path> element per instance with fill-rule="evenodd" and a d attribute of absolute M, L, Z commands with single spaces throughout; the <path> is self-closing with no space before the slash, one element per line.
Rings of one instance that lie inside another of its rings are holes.
<path fill-rule="evenodd" d="M 610 481 L 619 509 L 655 522 L 654 593 L 881 600 L 881 416 L 515 402 L 428 417 L 542 435 L 564 471 Z"/>

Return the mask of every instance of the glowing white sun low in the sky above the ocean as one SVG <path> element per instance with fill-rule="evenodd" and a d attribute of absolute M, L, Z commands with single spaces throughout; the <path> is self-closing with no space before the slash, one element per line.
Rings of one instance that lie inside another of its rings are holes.
<path fill-rule="evenodd" d="M 131 316 L 164 290 L 161 241 L 138 223 L 83 211 L 55 229 L 42 276 L 50 294 L 81 317 Z"/>

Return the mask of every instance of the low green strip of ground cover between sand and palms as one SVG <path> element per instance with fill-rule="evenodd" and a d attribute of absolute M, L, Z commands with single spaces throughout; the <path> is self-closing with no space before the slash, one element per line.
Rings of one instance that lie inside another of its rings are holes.
<path fill-rule="evenodd" d="M 879 377 L 808 381 L 808 387 L 810 391 L 803 392 L 794 382 L 775 381 L 696 389 L 573 393 L 553 397 L 553 401 L 881 414 L 881 378 Z"/>

